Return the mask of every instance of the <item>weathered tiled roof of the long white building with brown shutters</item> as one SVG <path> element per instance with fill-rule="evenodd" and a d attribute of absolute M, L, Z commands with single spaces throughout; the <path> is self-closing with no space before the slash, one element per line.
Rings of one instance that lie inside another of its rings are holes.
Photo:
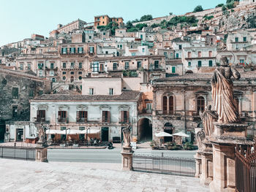
<path fill-rule="evenodd" d="M 45 94 L 38 96 L 31 101 L 120 101 L 138 100 L 140 91 L 122 91 L 121 95 L 77 95 L 77 94 Z"/>

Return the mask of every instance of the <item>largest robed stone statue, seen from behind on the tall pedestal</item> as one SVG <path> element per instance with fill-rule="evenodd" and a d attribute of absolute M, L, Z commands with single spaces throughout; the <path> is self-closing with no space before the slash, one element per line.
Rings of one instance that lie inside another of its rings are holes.
<path fill-rule="evenodd" d="M 238 106 L 233 96 L 231 77 L 240 79 L 240 73 L 231 69 L 226 57 L 221 58 L 221 66 L 217 67 L 211 79 L 211 93 L 214 107 L 219 115 L 219 123 L 236 123 L 239 120 Z"/>

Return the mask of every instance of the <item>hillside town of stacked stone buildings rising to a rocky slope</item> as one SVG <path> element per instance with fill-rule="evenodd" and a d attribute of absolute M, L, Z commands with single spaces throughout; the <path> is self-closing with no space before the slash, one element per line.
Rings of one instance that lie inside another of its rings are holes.
<path fill-rule="evenodd" d="M 34 143 L 43 123 L 52 145 L 84 143 L 88 135 L 121 142 L 127 126 L 132 142 L 181 145 L 178 136 L 156 137 L 164 131 L 184 132 L 194 145 L 223 56 L 241 73 L 234 96 L 254 137 L 255 8 L 255 1 L 233 1 L 127 23 L 121 15 L 97 15 L 59 24 L 49 37 L 31 34 L 1 46 L 1 142 Z"/>

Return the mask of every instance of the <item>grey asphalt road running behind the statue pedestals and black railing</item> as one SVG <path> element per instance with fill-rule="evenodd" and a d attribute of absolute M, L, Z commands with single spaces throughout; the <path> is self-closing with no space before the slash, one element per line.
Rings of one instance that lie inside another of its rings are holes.
<path fill-rule="evenodd" d="M 135 150 L 135 154 L 158 155 L 180 158 L 194 158 L 194 151 L 184 150 Z M 121 163 L 121 149 L 48 149 L 48 161 Z"/>

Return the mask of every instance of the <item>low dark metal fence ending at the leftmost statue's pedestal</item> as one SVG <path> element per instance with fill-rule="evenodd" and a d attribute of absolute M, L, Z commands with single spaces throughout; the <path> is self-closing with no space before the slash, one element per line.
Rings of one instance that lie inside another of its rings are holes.
<path fill-rule="evenodd" d="M 31 147 L 0 147 L 0 158 L 36 160 L 36 150 Z"/>

